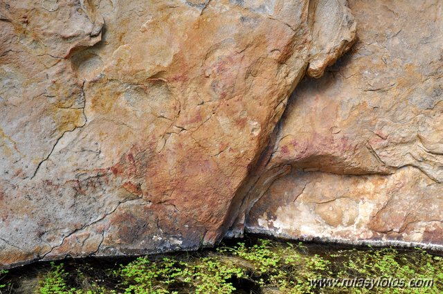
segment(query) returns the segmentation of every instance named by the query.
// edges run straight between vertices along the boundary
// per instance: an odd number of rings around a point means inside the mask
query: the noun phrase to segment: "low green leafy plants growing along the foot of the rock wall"
[[[69,262],[69,261],[66,261]],[[333,248],[256,239],[217,250],[138,257],[108,265],[51,263],[39,273],[40,294],[443,293],[443,257],[425,250]],[[99,275],[100,278],[95,275]],[[14,281],[0,271],[0,293]],[[433,279],[425,288],[343,287],[316,279]]]

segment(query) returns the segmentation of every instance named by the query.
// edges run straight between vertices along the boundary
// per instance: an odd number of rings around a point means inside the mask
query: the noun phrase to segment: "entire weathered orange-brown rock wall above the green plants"
[[[443,245],[442,7],[0,0],[0,266]]]

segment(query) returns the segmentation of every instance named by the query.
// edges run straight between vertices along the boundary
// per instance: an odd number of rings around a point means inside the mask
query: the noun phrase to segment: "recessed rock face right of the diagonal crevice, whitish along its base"
[[[233,233],[442,248],[443,2],[398,4],[350,1],[358,42],[296,89]]]

